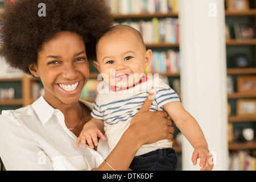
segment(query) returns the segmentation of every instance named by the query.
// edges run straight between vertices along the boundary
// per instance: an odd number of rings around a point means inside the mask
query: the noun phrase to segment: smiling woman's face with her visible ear
[[[44,85],[44,98],[54,106],[75,104],[89,78],[84,41],[74,32],[58,32],[44,43],[38,65],[30,65]]]

